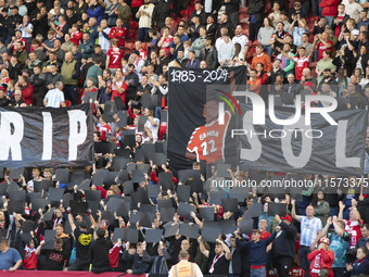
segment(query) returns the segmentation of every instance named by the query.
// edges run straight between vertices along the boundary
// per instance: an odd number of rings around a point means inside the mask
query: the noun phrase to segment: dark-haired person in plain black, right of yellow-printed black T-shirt
[[[111,270],[109,250],[113,247],[112,241],[105,239],[107,230],[99,228],[97,231],[98,239],[91,243],[89,257],[92,264],[92,273],[104,273]]]

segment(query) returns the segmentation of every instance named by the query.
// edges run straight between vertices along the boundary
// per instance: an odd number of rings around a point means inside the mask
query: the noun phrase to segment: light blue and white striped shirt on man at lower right
[[[318,231],[322,230],[322,224],[320,218],[306,216],[300,216],[301,218],[301,236],[300,245],[311,247],[313,242],[318,237]]]

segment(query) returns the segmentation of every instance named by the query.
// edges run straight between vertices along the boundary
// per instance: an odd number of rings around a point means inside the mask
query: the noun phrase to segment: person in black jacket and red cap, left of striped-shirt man
[[[290,268],[295,257],[297,229],[292,225],[290,215],[285,215],[284,217],[276,215],[276,219],[279,223],[279,227],[277,227],[279,231],[272,242],[275,265],[278,276],[288,277],[290,276]]]

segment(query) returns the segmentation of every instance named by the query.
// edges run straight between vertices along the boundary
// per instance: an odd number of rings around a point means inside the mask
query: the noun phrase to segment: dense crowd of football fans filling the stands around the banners
[[[175,177],[140,151],[154,142],[165,153],[171,66],[247,66],[247,89],[266,100],[318,93],[342,110],[367,109],[368,8],[367,0],[0,0],[0,106],[92,102],[99,144],[96,164],[69,168],[66,181],[54,168],[4,169],[0,269],[368,276],[369,198],[359,178],[349,180],[356,189],[325,191],[315,185],[334,176],[302,174],[308,186],[293,198],[232,191],[209,186],[199,162]],[[148,95],[156,96],[149,104]],[[105,113],[111,101],[127,111],[124,126]],[[122,141],[129,129],[133,143]],[[281,176],[291,177],[230,169],[227,178]],[[182,185],[190,192],[180,193]],[[51,198],[55,189],[61,200]],[[238,196],[237,209],[222,205],[226,194]],[[271,213],[273,203],[283,209]],[[164,234],[152,239],[152,229]]]

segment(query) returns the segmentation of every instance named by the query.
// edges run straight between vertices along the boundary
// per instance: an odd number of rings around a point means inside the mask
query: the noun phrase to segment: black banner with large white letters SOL
[[[310,125],[306,125],[303,113],[296,124],[283,126],[270,119],[268,109],[265,110],[265,124],[254,125],[255,106],[240,104],[240,108],[242,116],[228,126],[230,140],[226,142],[238,146],[240,166],[283,173],[362,174],[366,110],[330,112],[329,116],[338,125],[330,124],[320,113],[311,113]],[[295,109],[275,109],[273,114],[277,118],[288,119],[295,115]]]

